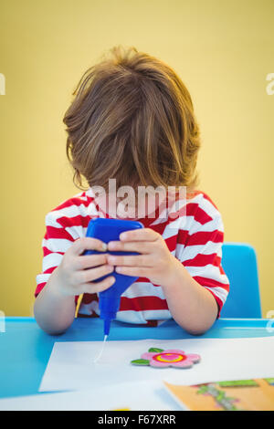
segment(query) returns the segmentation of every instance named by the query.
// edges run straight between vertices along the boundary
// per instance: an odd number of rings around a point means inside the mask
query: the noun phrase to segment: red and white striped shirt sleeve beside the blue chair
[[[222,216],[212,200],[204,196],[198,203],[187,204],[175,256],[195,281],[214,296],[218,306],[217,318],[229,291],[229,281],[222,267],[223,242]]]

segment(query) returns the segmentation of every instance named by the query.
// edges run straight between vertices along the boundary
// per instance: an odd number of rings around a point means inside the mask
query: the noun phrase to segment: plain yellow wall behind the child
[[[258,253],[263,316],[274,309],[273,0],[2,0],[1,290],[8,316],[32,314],[45,214],[79,189],[62,118],[82,73],[116,44],[163,59],[189,89],[203,148],[200,188],[225,240]]]

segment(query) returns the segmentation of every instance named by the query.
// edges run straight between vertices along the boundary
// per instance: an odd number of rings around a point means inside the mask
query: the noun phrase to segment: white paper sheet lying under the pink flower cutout
[[[100,347],[101,341],[56,342],[39,391],[100,388],[146,380],[197,384],[274,376],[274,337],[109,341],[100,361],[93,363]],[[130,363],[151,347],[198,353],[201,361],[190,369]]]

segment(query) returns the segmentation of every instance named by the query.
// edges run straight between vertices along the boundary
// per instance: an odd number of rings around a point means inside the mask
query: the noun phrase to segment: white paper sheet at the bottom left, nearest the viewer
[[[143,394],[145,392],[145,395]],[[1,411],[175,411],[180,406],[163,382],[119,383],[80,392],[43,393],[0,399]]]

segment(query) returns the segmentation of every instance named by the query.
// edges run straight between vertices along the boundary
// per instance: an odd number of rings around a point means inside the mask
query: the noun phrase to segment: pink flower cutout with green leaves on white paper
[[[131,361],[132,365],[152,366],[153,368],[191,368],[194,363],[201,360],[198,354],[186,354],[177,349],[149,349],[142,353],[141,359]]]

